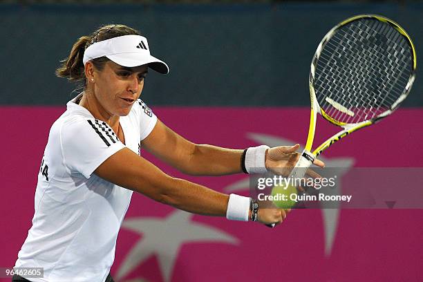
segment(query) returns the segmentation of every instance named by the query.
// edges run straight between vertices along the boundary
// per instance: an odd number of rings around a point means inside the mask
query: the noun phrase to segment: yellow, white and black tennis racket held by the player
[[[358,15],[332,28],[312,59],[310,128],[289,177],[303,178],[333,143],[391,115],[410,92],[415,69],[413,42],[391,19]],[[312,150],[317,113],[342,130]]]

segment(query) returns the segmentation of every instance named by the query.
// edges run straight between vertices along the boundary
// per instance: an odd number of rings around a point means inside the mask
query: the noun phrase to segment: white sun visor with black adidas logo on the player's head
[[[84,65],[91,59],[108,57],[120,66],[133,67],[148,64],[158,73],[169,73],[169,67],[160,59],[150,55],[147,38],[140,35],[124,35],[95,42],[84,52]]]

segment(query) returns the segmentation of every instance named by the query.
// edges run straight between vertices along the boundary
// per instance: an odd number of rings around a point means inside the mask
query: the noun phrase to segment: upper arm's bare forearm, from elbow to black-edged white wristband
[[[195,145],[180,170],[196,176],[222,176],[242,172],[243,150],[226,149],[208,144]]]

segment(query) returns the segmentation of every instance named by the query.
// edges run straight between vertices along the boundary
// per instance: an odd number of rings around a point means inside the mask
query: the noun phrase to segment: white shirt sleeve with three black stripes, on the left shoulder
[[[64,164],[86,178],[114,153],[124,148],[109,124],[82,119],[62,126],[61,146]]]

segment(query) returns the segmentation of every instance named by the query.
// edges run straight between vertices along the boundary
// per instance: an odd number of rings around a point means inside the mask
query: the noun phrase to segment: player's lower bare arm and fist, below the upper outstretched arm
[[[160,203],[194,214],[227,216],[229,196],[187,180],[173,178],[123,148],[100,164],[94,173],[115,185],[137,191]],[[245,212],[249,210],[247,203]],[[281,223],[283,209],[259,209],[261,223]]]

